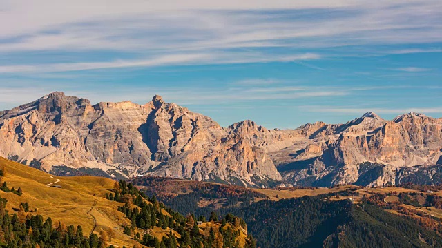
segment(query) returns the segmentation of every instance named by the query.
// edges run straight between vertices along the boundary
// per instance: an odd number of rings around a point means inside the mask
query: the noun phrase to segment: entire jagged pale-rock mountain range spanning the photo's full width
[[[436,165],[441,149],[442,119],[415,113],[385,121],[369,112],[345,124],[267,130],[253,121],[220,127],[161,96],[145,105],[91,105],[63,92],[0,112],[0,155],[62,174],[250,186],[329,186],[363,176],[365,185],[387,185],[403,177],[400,168]],[[367,163],[381,169],[366,174]]]

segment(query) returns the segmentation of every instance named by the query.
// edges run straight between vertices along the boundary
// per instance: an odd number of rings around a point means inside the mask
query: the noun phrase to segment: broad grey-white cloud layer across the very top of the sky
[[[67,8],[52,0],[7,1],[0,17],[0,51],[202,52],[442,41],[440,1],[226,2],[98,0],[91,6],[80,0]]]

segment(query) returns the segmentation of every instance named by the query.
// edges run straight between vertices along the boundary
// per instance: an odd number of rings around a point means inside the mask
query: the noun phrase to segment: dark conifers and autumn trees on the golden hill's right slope
[[[198,221],[204,217],[195,218],[193,214],[184,217],[176,211],[166,207],[157,201],[155,196],[149,198],[140,192],[131,183],[119,181],[114,186],[114,194],[106,195],[106,198],[125,203],[118,210],[131,220],[131,226],[124,227],[124,232],[133,236],[142,245],[148,247],[231,247],[239,246],[238,237],[240,227],[247,228],[244,220],[227,214],[222,223],[218,223],[218,216],[213,212],[211,223],[206,224],[205,231],[201,231]],[[135,205],[135,207],[131,207]],[[150,230],[161,228],[169,231],[169,234],[159,240],[151,234]],[[144,234],[140,235],[140,231]],[[177,238],[180,237],[180,238]],[[251,247],[247,245],[247,247]]]

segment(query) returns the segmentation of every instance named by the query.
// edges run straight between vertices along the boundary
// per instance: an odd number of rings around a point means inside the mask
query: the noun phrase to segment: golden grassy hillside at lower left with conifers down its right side
[[[190,245],[190,242],[201,245],[213,242],[212,228],[215,229],[213,235],[220,235],[219,223],[203,222],[197,226],[195,216],[186,218],[156,200],[151,202],[151,199],[124,181],[117,183],[109,178],[95,176],[51,176],[39,169],[1,157],[0,170],[3,175],[0,197],[7,200],[4,209],[9,214],[51,218],[57,230],[70,225],[73,228],[81,226],[86,237],[90,234],[99,234],[101,237],[102,232],[110,233],[109,236],[113,237],[106,241],[106,247],[156,247],[154,238],[158,240],[157,245],[160,245],[161,241],[186,247],[185,244]],[[23,206],[26,206],[26,210],[23,210]],[[133,220],[135,216],[136,223]],[[139,217],[148,218],[150,222],[140,225]],[[216,242],[221,245],[227,242],[233,242],[234,245],[238,242],[238,247],[249,247],[247,227],[233,226],[233,220],[235,223],[240,221],[235,216],[231,216],[230,219],[231,223],[228,222],[222,227],[222,238]],[[24,217],[21,221],[25,221]],[[195,231],[198,229],[200,231]],[[243,231],[238,231],[239,229]],[[16,237],[20,236],[20,233],[17,230]],[[64,235],[63,232],[61,234]],[[183,239],[183,234],[189,235],[189,240]],[[0,235],[0,243],[1,238],[3,236]]]

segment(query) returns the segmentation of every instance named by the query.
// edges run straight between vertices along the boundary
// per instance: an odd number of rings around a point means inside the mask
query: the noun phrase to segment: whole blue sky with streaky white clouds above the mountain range
[[[0,109],[58,90],[227,126],[442,116],[442,1],[0,0]]]

